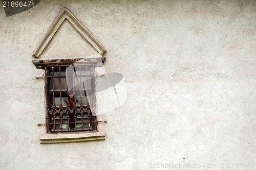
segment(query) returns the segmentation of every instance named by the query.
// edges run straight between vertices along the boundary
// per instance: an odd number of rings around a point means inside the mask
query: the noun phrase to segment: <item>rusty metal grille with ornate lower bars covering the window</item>
[[[45,67],[48,133],[96,131],[94,66]]]

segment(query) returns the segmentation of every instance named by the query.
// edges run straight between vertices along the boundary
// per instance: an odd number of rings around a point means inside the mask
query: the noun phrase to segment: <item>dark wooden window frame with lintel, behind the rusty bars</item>
[[[105,57],[96,57],[96,58],[76,58],[76,59],[55,59],[55,60],[33,60],[33,63],[34,65],[36,66],[37,69],[44,69],[44,72],[45,72],[45,95],[46,95],[46,111],[47,111],[47,116],[46,116],[46,125],[47,125],[47,133],[48,134],[51,134],[51,133],[61,133],[61,132],[97,132],[97,116],[96,116],[96,113],[95,113],[95,107],[96,107],[96,85],[95,85],[95,68],[96,67],[100,67],[102,66],[103,62],[105,60]],[[54,116],[49,116],[49,114],[53,114],[52,112],[55,111],[56,114],[60,114],[60,110],[64,113],[63,111],[63,104],[62,106],[59,105],[59,107],[57,107],[55,105],[52,105],[49,104],[50,102],[53,102],[53,100],[51,100],[51,94],[50,94],[50,72],[53,72],[53,79],[55,78],[54,76],[54,72],[57,72],[56,69],[59,69],[59,72],[63,71],[64,69],[63,68],[66,68],[69,67],[70,65],[73,65],[73,68],[74,68],[74,63],[75,63],[75,66],[79,66],[79,67],[87,67],[87,68],[92,68],[93,69],[93,73],[91,72],[91,74],[93,75],[93,78],[91,77],[91,93],[90,94],[94,94],[94,104],[90,105],[89,102],[84,104],[84,103],[80,103],[80,105],[76,105],[76,102],[77,102],[77,98],[78,97],[75,97],[73,99],[73,109],[70,109],[69,111],[73,111],[75,108],[77,109],[77,111],[79,111],[78,113],[80,113],[80,111],[82,110],[83,113],[84,112],[87,112],[87,117],[83,117],[81,116],[81,118],[79,117],[76,117],[77,116],[77,113],[76,113],[76,116],[73,116],[73,119],[75,119],[72,123],[74,123],[74,126],[73,128],[70,128],[69,126],[69,122],[68,122],[68,131],[65,129],[65,131],[63,131],[63,117],[60,119],[60,123],[61,123],[61,128],[60,130],[56,130],[56,117],[55,117],[55,120],[53,122],[51,122],[51,118],[54,118]],[[61,75],[61,73],[59,74]],[[60,78],[61,79],[61,78]],[[54,82],[54,81],[53,81]],[[88,89],[87,89],[88,90]],[[60,90],[61,91],[61,90]],[[55,91],[54,91],[54,94],[55,94]],[[88,94],[88,93],[87,93]],[[63,93],[63,97],[64,96],[70,96],[70,94],[68,93]],[[52,96],[53,97],[53,96]],[[60,96],[54,96],[54,97],[60,97]],[[62,95],[61,95],[62,97]],[[74,96],[73,96],[74,97]],[[72,99],[72,97],[69,97],[69,99]],[[69,103],[67,102],[67,107],[68,108],[68,104],[69,107],[72,105],[72,102],[69,100]],[[75,104],[75,105],[74,105]],[[57,109],[56,109],[57,108]],[[89,113],[88,113],[88,110],[90,109]],[[67,109],[66,109],[67,110]],[[67,113],[67,111],[66,111]],[[65,113],[65,114],[66,114]],[[73,112],[72,112],[73,113]],[[70,115],[69,115],[70,116]],[[68,116],[67,116],[68,118]],[[70,118],[70,117],[69,117]],[[84,118],[87,118],[88,120],[90,121],[83,121]],[[76,129],[76,120],[77,119],[80,119],[81,120],[81,129],[77,130]],[[66,120],[66,119],[65,119]],[[69,121],[69,120],[68,120]],[[88,123],[89,122],[89,123]],[[54,126],[53,126],[53,130],[51,129],[51,123],[55,123]],[[88,123],[88,127],[87,129],[84,129],[83,127],[83,123]],[[64,123],[65,124],[65,123]]]

